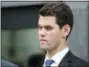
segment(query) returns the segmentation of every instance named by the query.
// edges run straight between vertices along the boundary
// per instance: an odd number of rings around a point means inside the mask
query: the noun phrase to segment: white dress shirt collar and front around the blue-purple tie
[[[64,56],[67,54],[67,52],[69,51],[68,47],[66,47],[65,49],[61,50],[60,52],[58,52],[57,54],[55,54],[53,57],[49,58],[47,55],[45,56],[45,60],[48,59],[52,59],[54,60],[54,63],[51,64],[51,66],[58,66],[61,62],[61,60],[64,58]],[[43,65],[45,67],[45,64]]]

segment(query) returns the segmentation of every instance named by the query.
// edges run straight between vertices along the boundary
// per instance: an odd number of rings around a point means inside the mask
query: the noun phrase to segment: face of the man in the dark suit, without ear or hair
[[[38,22],[40,47],[52,50],[59,47],[62,39],[62,30],[56,24],[54,16],[40,16]]]

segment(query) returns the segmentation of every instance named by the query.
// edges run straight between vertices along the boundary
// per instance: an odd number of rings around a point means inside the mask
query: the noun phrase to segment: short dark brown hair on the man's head
[[[72,30],[73,13],[71,8],[64,2],[46,4],[40,9],[39,14],[41,16],[55,16],[56,23],[60,28],[66,24],[69,24]]]

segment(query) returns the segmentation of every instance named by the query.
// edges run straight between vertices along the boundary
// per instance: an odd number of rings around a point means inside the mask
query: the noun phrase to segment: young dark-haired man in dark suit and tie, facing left
[[[29,66],[88,67],[87,62],[74,56],[67,44],[72,31],[73,13],[63,2],[50,3],[39,12],[38,32],[40,47],[45,56],[32,56]]]

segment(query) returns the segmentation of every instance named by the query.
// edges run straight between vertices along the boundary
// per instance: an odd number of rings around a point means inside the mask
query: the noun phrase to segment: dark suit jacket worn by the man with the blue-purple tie
[[[45,55],[32,55],[28,60],[29,67],[42,67]],[[89,67],[84,60],[74,56],[70,51],[62,59],[58,67]]]

